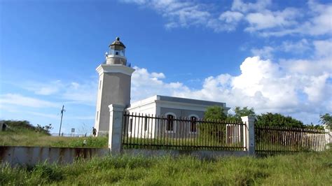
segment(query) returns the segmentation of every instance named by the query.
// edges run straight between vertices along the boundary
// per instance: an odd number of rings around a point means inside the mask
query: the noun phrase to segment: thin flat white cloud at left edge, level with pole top
[[[28,96],[22,96],[21,94],[2,94],[0,95],[1,105],[16,105],[16,106],[27,106],[32,108],[57,108],[60,106],[59,103],[53,103],[50,101],[44,101]]]

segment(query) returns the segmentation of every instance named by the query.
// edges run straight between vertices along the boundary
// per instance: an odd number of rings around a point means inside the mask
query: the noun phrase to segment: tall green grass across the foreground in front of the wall
[[[70,165],[3,164],[0,185],[331,185],[332,150],[266,158],[104,157]]]

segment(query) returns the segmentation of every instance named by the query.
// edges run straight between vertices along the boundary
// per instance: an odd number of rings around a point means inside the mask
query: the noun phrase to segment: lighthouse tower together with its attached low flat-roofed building
[[[109,45],[109,53],[105,55],[106,60],[97,67],[99,73],[99,86],[97,94],[97,109],[95,117],[95,128],[97,135],[109,132],[109,105],[119,104],[125,106],[130,113],[140,113],[141,115],[165,116],[167,118],[187,117],[192,120],[204,117],[208,106],[221,106],[225,113],[230,109],[226,103],[203,101],[197,99],[184,99],[172,96],[151,96],[147,99],[130,103],[130,83],[131,75],[134,72],[127,66],[125,57],[125,45],[116,38]],[[134,127],[135,128],[135,127]],[[146,122],[146,127],[141,131],[152,129],[155,131],[156,122]],[[188,127],[188,132],[195,133],[194,129]],[[130,126],[132,129],[132,126]],[[158,130],[165,130],[167,133],[181,131],[177,122],[172,122]],[[150,135],[154,135],[150,133]]]

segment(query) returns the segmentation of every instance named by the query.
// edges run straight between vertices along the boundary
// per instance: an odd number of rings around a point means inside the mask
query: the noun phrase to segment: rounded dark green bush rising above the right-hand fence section
[[[290,116],[284,116],[279,113],[265,113],[257,115],[257,126],[275,126],[275,127],[305,127],[303,122],[293,119]]]

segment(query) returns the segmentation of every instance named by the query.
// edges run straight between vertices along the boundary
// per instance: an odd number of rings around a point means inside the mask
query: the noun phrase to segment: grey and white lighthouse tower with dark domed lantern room
[[[109,105],[130,105],[130,83],[134,69],[127,66],[125,45],[116,38],[109,45],[106,61],[97,67],[99,86],[97,94],[97,109],[95,128],[97,136],[109,132]]]

